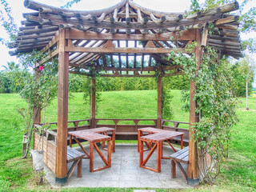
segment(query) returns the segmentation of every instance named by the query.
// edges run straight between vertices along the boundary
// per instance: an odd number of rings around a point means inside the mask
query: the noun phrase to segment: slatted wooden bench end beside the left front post
[[[70,178],[71,174],[73,174],[76,166],[78,166],[78,178],[82,178],[82,158],[84,156],[85,154],[82,154],[78,150],[74,150],[69,146],[67,147],[66,162],[73,162],[70,170],[67,172],[68,179]]]

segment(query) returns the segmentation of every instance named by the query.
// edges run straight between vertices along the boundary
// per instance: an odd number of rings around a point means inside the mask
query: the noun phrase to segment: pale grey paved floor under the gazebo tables
[[[87,147],[86,147],[87,148]],[[163,155],[173,153],[169,146],[163,147]],[[79,148],[76,148],[80,150]],[[89,151],[89,150],[88,150]],[[146,152],[145,152],[146,153]],[[147,152],[148,153],[148,152]],[[106,155],[106,151],[103,151]],[[145,158],[146,156],[144,156]],[[156,151],[147,166],[156,168]],[[71,166],[71,163],[68,165]],[[94,152],[94,168],[103,166],[102,159]],[[185,165],[184,165],[185,166]],[[139,167],[137,145],[117,145],[112,153],[112,166],[106,170],[90,173],[89,159],[83,159],[82,178],[76,177],[76,170],[65,185],[66,187],[151,187],[151,188],[187,188],[177,169],[177,178],[170,177],[170,159],[162,159],[161,173],[155,173]],[[54,186],[54,174],[46,169],[46,178]]]

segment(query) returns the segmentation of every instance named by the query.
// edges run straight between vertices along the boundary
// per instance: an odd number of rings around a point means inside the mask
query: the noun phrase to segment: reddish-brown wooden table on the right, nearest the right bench
[[[147,133],[147,135],[145,135]],[[170,144],[168,141],[171,138],[180,136],[181,137],[181,149],[183,148],[183,134],[182,132],[178,131],[171,131],[171,130],[160,130],[156,128],[151,128],[151,127],[146,127],[142,129],[138,129],[138,149],[139,149],[139,165],[142,168],[148,169],[148,170],[153,170],[155,172],[160,172],[161,171],[161,159],[170,159],[168,157],[163,157],[162,156],[162,142],[166,141],[176,152],[174,149],[174,146]],[[144,135],[144,136],[142,136]],[[143,159],[143,142],[145,142],[147,146],[147,150],[150,150],[150,153],[146,156],[145,159]],[[151,147],[151,143],[154,143],[154,146]],[[157,169],[154,169],[150,166],[146,166],[146,162],[150,159],[151,155],[154,153],[154,150],[158,149],[157,151]]]

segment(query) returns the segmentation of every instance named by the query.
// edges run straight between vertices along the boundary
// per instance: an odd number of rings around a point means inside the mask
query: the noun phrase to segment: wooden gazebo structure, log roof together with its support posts
[[[16,42],[10,43],[10,55],[29,53],[36,49],[46,53],[46,58],[35,67],[58,58],[58,129],[55,175],[57,182],[66,182],[66,139],[68,131],[68,79],[70,74],[87,74],[92,67],[100,70],[102,77],[158,78],[158,118],[154,126],[167,129],[162,120],[162,77],[183,74],[182,66],[167,60],[170,51],[186,53],[186,45],[197,42],[194,53],[198,69],[204,46],[213,46],[220,57],[242,57],[238,32],[238,2],[222,5],[196,14],[177,14],[149,10],[131,0],[122,0],[103,10],[66,10],[26,0],[24,5],[33,13],[23,14],[25,21]],[[213,24],[209,35],[208,25]],[[90,128],[98,127],[95,118],[95,78],[92,77],[90,103]],[[198,122],[196,86],[190,82],[190,137],[192,125]],[[118,121],[118,120],[114,120]],[[134,120],[134,130],[138,129]],[[36,122],[40,123],[40,113]],[[74,121],[75,125],[76,121]],[[179,122],[174,122],[178,125]],[[77,125],[78,126],[78,125]],[[117,127],[115,122],[114,127]],[[87,127],[88,128],[88,127]],[[129,133],[127,134],[129,135]],[[189,138],[190,138],[189,137]],[[188,182],[198,182],[197,143],[189,139]]]

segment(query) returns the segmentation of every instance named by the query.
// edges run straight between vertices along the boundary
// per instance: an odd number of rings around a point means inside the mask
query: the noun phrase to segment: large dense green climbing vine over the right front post
[[[194,140],[198,142],[198,166],[202,179],[212,183],[227,157],[231,128],[238,122],[234,79],[230,73],[232,65],[227,58],[219,58],[216,50],[210,47],[206,47],[202,54],[199,70],[196,70],[194,54],[187,57],[171,52],[170,57],[196,84],[194,100],[200,121],[193,127]],[[188,101],[189,94],[183,95],[183,99]],[[187,106],[185,108],[188,109]]]

